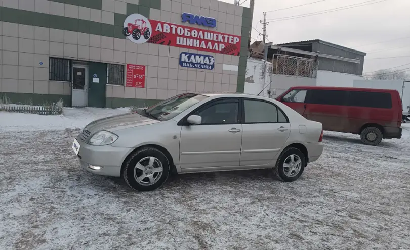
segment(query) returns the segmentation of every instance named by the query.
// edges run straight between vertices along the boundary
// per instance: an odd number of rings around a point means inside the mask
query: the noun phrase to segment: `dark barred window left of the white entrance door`
[[[49,80],[50,81],[71,81],[71,60],[63,58],[49,59]]]

